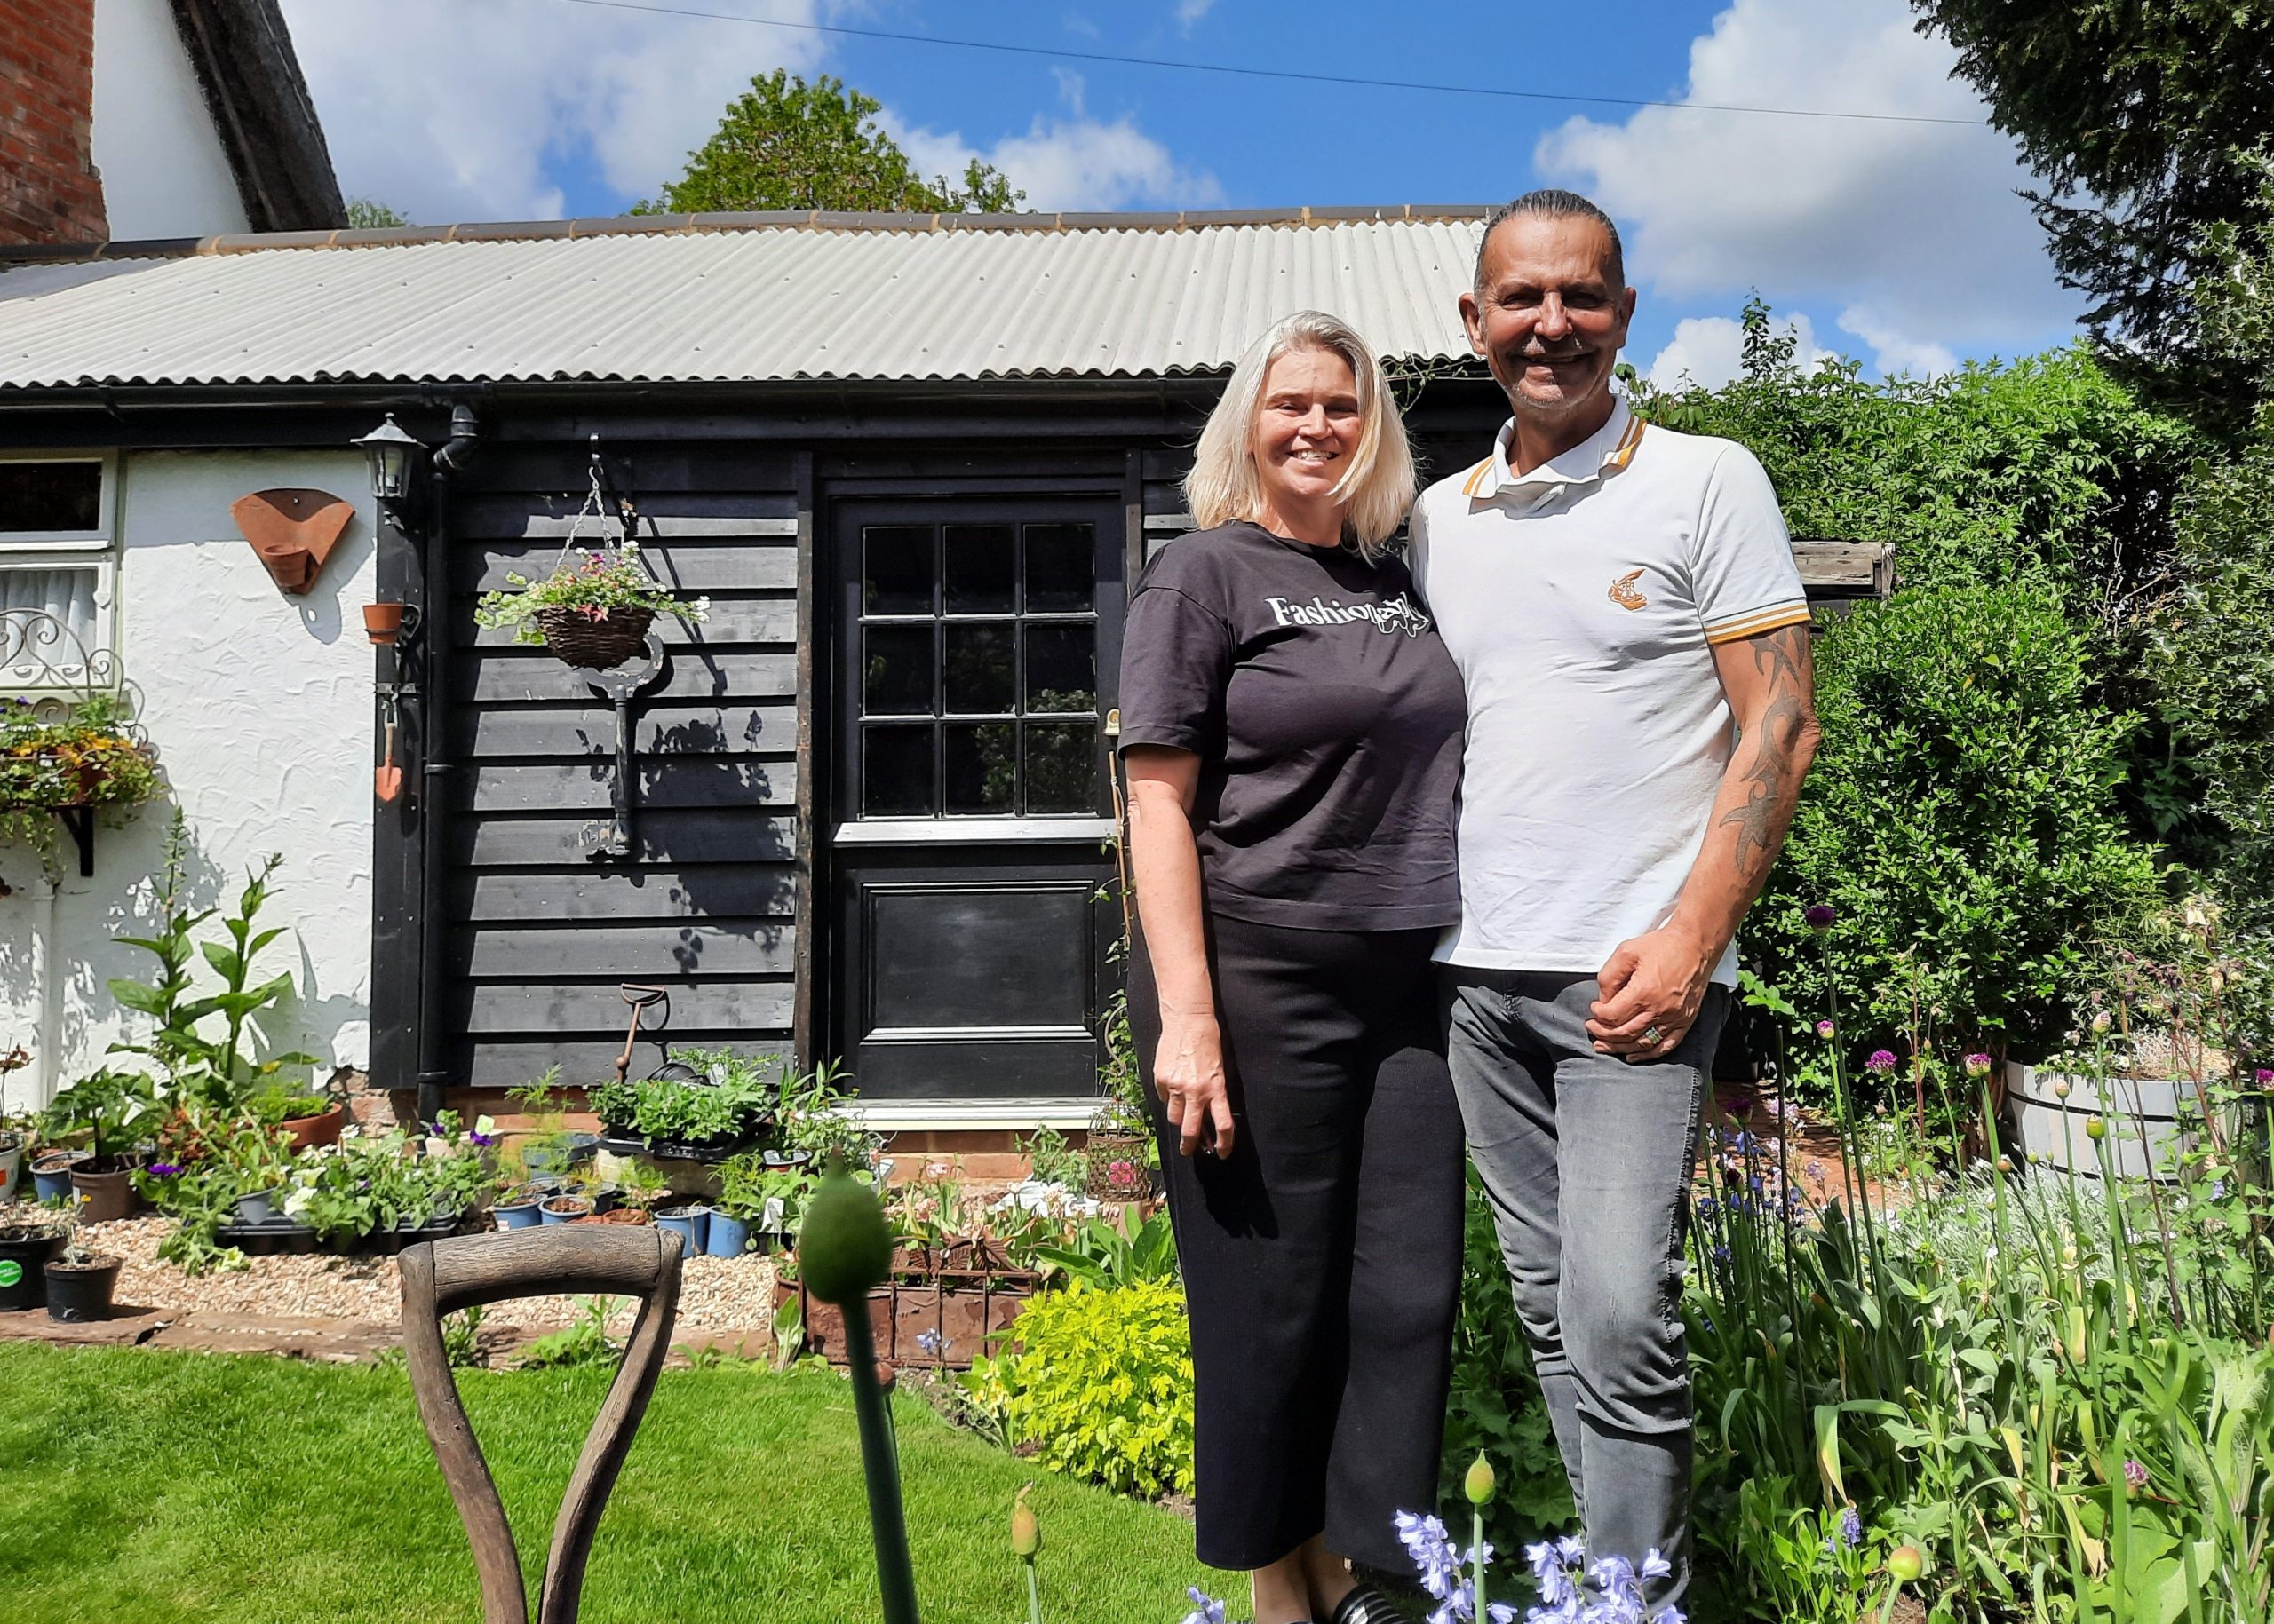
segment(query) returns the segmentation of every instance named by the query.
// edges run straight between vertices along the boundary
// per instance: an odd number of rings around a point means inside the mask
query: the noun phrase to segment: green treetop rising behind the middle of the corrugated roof
[[[782,68],[750,80],[719,132],[687,155],[687,173],[634,214],[735,209],[882,209],[910,214],[1005,214],[1026,202],[1003,171],[971,159],[962,187],[923,180],[875,123],[880,102],[821,75],[812,84]]]

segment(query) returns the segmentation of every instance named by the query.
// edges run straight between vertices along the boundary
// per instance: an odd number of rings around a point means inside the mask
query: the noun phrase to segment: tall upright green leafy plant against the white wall
[[[271,876],[284,862],[268,857],[257,871],[246,876],[246,889],[236,898],[236,912],[225,914],[221,926],[227,942],[200,942],[198,926],[214,917],[211,908],[191,910],[184,896],[182,855],[189,835],[180,807],[166,830],[166,857],[159,876],[159,930],[150,937],[118,937],[125,946],[141,948],[159,962],[155,980],[111,980],[111,996],[130,1010],[148,1014],[155,1030],[139,1044],[111,1044],[111,1053],[146,1055],[168,1076],[173,1092],[207,1105],[239,1105],[255,1094],[282,1087],[287,1067],[314,1067],[314,1055],[277,1053],[257,1058],[248,1049],[255,1021],[291,996],[291,973],[257,980],[252,960],[259,958],[284,928],[257,930],[255,919],[268,903]],[[205,964],[221,978],[221,989],[193,996],[193,962]],[[221,1030],[207,1030],[218,1019]]]

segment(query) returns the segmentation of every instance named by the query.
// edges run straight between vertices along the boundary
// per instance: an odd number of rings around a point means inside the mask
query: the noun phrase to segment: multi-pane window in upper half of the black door
[[[866,525],[862,817],[1098,807],[1094,523]]]

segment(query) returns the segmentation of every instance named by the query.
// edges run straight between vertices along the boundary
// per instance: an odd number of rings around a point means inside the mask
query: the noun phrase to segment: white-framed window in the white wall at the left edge
[[[0,453],[0,694],[109,685],[116,514],[109,453]]]

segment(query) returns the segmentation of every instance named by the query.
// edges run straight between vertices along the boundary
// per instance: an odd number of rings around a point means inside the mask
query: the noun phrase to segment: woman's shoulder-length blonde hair
[[[1185,475],[1185,503],[1201,530],[1253,521],[1264,507],[1255,475],[1255,412],[1264,398],[1271,364],[1289,350],[1328,350],[1351,364],[1358,380],[1358,450],[1351,455],[1335,496],[1342,498],[1342,539],[1364,557],[1376,557],[1396,535],[1414,503],[1414,457],[1405,444],[1405,421],[1389,398],[1389,378],[1358,332],[1335,316],[1298,309],[1271,323],[1233,368],[1223,398],[1207,414],[1201,444]]]

